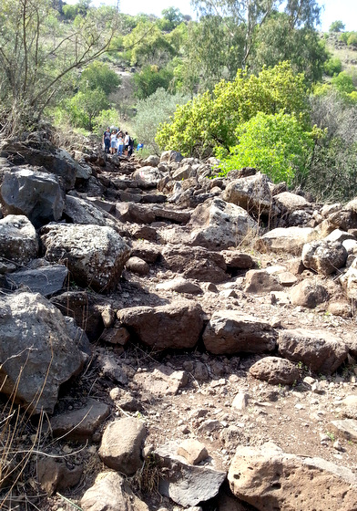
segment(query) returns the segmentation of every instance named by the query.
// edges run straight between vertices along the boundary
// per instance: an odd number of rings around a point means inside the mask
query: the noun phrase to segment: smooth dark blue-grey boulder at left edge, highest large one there
[[[60,220],[64,196],[54,174],[17,167],[5,172],[0,192],[5,214],[24,214],[35,227]]]

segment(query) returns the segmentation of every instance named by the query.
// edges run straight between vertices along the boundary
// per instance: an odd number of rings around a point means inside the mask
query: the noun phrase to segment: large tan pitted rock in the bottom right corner
[[[321,458],[285,454],[273,444],[239,447],[228,474],[230,489],[260,511],[348,511],[357,507],[357,477]]]

